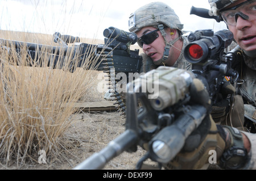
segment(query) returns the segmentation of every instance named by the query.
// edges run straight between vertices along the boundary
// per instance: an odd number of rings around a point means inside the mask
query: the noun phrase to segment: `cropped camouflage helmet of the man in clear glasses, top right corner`
[[[220,15],[219,12],[237,0],[208,0],[213,15]]]

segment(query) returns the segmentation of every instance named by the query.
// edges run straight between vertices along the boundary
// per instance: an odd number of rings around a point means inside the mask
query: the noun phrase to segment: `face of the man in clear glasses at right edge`
[[[234,7],[245,0],[238,0],[227,8]],[[250,6],[256,12],[256,3],[251,3]],[[244,50],[251,51],[256,50],[256,14],[249,14],[248,11],[239,9],[240,12],[249,16],[249,19],[244,19],[241,16],[237,16],[236,25],[229,25],[229,30],[233,32],[234,39],[238,45]]]

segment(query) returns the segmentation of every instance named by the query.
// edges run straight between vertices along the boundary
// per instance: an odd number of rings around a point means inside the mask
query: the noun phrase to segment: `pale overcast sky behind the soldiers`
[[[129,15],[150,0],[0,0],[1,30],[69,34],[104,39],[103,31],[128,31]],[[209,9],[208,0],[163,0],[179,16],[185,31],[224,30],[224,23],[190,15],[192,6]]]

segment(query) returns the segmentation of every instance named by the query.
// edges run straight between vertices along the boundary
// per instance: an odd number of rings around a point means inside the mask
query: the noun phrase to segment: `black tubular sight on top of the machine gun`
[[[103,35],[104,37],[112,38],[122,43],[131,42],[132,45],[137,43],[137,39],[138,39],[135,33],[121,31],[118,28],[114,28],[114,27],[106,28],[103,32]]]

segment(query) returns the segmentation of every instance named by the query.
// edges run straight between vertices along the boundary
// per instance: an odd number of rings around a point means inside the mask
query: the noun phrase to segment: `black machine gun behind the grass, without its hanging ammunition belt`
[[[141,70],[142,57],[139,56],[139,50],[129,49],[130,42],[131,44],[137,42],[135,33],[129,33],[119,30],[118,28],[109,27],[104,31],[104,36],[106,37],[105,44],[98,45],[79,43],[79,37],[61,35],[59,32],[53,34],[53,41],[59,43],[60,46],[5,39],[0,39],[0,45],[2,47],[15,49],[18,54],[21,50],[27,50],[27,56],[30,57],[31,60],[36,61],[36,64],[39,66],[42,65],[41,62],[43,61],[40,60],[40,58],[42,58],[40,54],[44,53],[47,54],[49,60],[53,62],[53,64],[51,63],[48,66],[53,65],[56,69],[57,66],[55,64],[57,64],[58,61],[61,61],[61,65],[64,65],[64,60],[68,58],[71,58],[72,64],[76,64],[77,67],[82,67],[84,64],[87,64],[86,61],[91,61],[95,58],[97,62],[93,65],[96,65],[98,71],[104,71],[106,63],[113,64],[115,71],[127,74],[136,73]],[[68,43],[72,45],[68,46]],[[86,69],[89,68],[90,64],[86,65]],[[75,71],[75,68],[72,68],[70,71]]]

